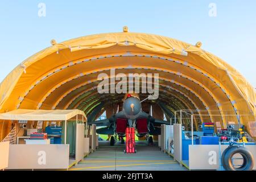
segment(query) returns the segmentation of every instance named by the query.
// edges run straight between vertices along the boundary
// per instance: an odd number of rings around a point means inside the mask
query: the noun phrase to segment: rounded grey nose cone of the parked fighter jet
[[[134,118],[141,112],[141,102],[135,97],[127,98],[123,102],[123,111],[127,117]]]

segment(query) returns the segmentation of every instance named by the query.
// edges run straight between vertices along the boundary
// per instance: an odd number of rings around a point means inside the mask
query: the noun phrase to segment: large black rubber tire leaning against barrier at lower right
[[[228,147],[226,148],[226,151],[223,152],[223,154],[221,156],[221,162],[226,171],[251,171],[253,169],[253,155],[249,150],[247,150],[247,148],[241,146]],[[240,154],[243,157],[243,164],[239,168],[235,168],[232,164],[232,157],[235,154]]]

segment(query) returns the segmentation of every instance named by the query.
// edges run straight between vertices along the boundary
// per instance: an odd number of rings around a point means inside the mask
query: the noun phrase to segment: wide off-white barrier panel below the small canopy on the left
[[[69,144],[12,144],[7,169],[67,169]]]

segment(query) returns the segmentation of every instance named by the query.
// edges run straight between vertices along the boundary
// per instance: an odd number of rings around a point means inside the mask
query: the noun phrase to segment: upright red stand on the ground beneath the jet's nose
[[[135,153],[135,129],[134,127],[126,128],[126,153]]]

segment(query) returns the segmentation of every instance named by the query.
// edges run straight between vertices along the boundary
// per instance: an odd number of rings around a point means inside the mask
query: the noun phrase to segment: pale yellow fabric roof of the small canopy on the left
[[[31,110],[31,109],[17,109],[7,113],[1,113],[0,119],[3,120],[23,120],[23,121],[65,121],[75,117],[76,115],[83,115],[84,121],[86,116],[83,111],[74,110]]]

